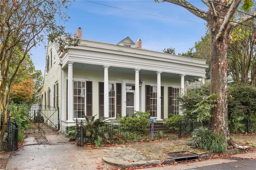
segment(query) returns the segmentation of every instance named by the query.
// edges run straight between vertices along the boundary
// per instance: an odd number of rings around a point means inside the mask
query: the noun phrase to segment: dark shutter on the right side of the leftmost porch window
[[[92,117],[92,81],[86,81],[86,117]]]

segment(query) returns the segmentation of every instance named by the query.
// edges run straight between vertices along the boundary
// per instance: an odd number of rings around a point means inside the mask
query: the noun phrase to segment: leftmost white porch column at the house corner
[[[68,121],[74,122],[73,120],[73,63],[68,63]]]

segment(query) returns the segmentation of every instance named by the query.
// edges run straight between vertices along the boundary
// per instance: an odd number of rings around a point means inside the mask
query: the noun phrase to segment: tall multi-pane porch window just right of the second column
[[[116,110],[116,84],[109,83],[108,84],[108,113],[109,117],[115,117]]]

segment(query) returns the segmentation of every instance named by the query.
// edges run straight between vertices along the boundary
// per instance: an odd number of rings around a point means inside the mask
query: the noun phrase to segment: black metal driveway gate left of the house
[[[58,131],[60,130],[59,108],[32,105],[27,112],[28,131]]]

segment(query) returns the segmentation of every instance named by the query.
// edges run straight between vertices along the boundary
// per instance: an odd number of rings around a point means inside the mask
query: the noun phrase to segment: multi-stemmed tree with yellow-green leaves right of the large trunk
[[[250,11],[255,11],[256,5]],[[240,13],[237,14],[241,16]],[[256,86],[256,44],[254,34],[256,23],[254,20],[245,22],[234,28],[231,32],[232,39],[228,45],[228,73],[234,83],[248,84],[248,73],[251,73],[251,85]]]

